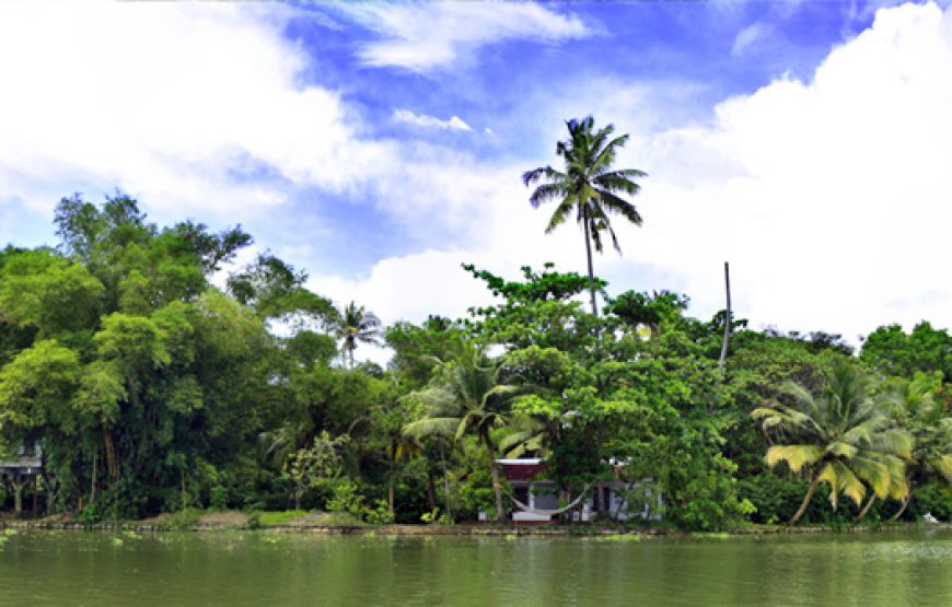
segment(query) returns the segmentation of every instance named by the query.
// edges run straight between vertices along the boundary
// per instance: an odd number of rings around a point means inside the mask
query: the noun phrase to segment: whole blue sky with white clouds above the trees
[[[120,190],[384,323],[460,317],[463,262],[584,272],[520,177],[589,115],[648,173],[611,293],[709,318],[730,261],[753,328],[952,326],[948,0],[0,3],[0,244]]]

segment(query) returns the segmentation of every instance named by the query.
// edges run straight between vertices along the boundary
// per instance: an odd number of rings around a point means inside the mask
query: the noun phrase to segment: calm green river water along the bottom
[[[4,537],[2,606],[952,606],[949,532],[642,541]]]

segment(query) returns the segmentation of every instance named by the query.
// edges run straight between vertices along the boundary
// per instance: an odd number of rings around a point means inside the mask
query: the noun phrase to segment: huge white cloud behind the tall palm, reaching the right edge
[[[627,109],[614,97],[594,100],[595,116],[632,133],[618,165],[651,175],[636,199],[645,227],[619,221],[625,256],[606,253],[596,271],[616,291],[685,291],[693,313],[708,316],[723,307],[730,260],[735,311],[754,326],[851,340],[891,322],[952,326],[949,66],[952,10],[904,5],[878,13],[811,81],[781,79],[728,100],[709,125],[659,131],[643,97]],[[547,114],[572,115],[554,105],[537,116]],[[583,271],[574,225],[543,234],[550,210],[529,208],[518,180],[525,168],[418,167],[408,187],[429,184],[434,201],[406,202],[398,214],[444,213],[444,225],[455,218],[453,234],[468,234],[466,245],[385,259],[365,279],[339,284],[339,296],[365,297],[386,319],[420,320],[428,312],[463,314],[478,297],[465,290],[481,288],[458,261],[507,276],[546,259]],[[448,240],[460,242],[442,234],[432,242]]]

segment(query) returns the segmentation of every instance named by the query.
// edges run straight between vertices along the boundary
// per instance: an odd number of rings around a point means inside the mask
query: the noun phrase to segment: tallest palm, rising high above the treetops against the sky
[[[565,162],[564,171],[557,171],[552,166],[533,168],[523,173],[522,180],[526,186],[542,182],[529,199],[534,208],[553,200],[557,203],[546,233],[565,223],[571,213],[576,214],[585,234],[592,314],[597,315],[592,245],[594,244],[595,250],[602,253],[602,234],[607,232],[615,250],[622,252],[608,214],[617,213],[635,225],[641,225],[638,210],[618,194],[629,196],[638,194],[641,186],[632,179],[646,177],[647,174],[637,168],[613,170],[615,155],[628,141],[628,136],[613,138],[615,132],[613,125],[595,130],[594,124],[591,116],[567,121],[569,138],[556,144],[556,154]]]

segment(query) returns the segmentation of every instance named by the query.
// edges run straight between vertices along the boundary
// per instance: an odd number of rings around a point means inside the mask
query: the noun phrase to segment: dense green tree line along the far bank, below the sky
[[[65,199],[56,225],[56,248],[0,254],[0,435],[42,447],[27,491],[47,512],[504,515],[490,463],[508,454],[545,457],[567,497],[651,478],[684,528],[952,514],[952,337],[925,323],[855,357],[733,320],[721,376],[725,315],[692,318],[675,293],[605,296],[595,316],[587,276],[467,266],[495,305],[382,330],[271,255],[216,287],[251,242],[237,227],[160,229],[125,196]],[[387,369],[356,363],[378,338]]]

